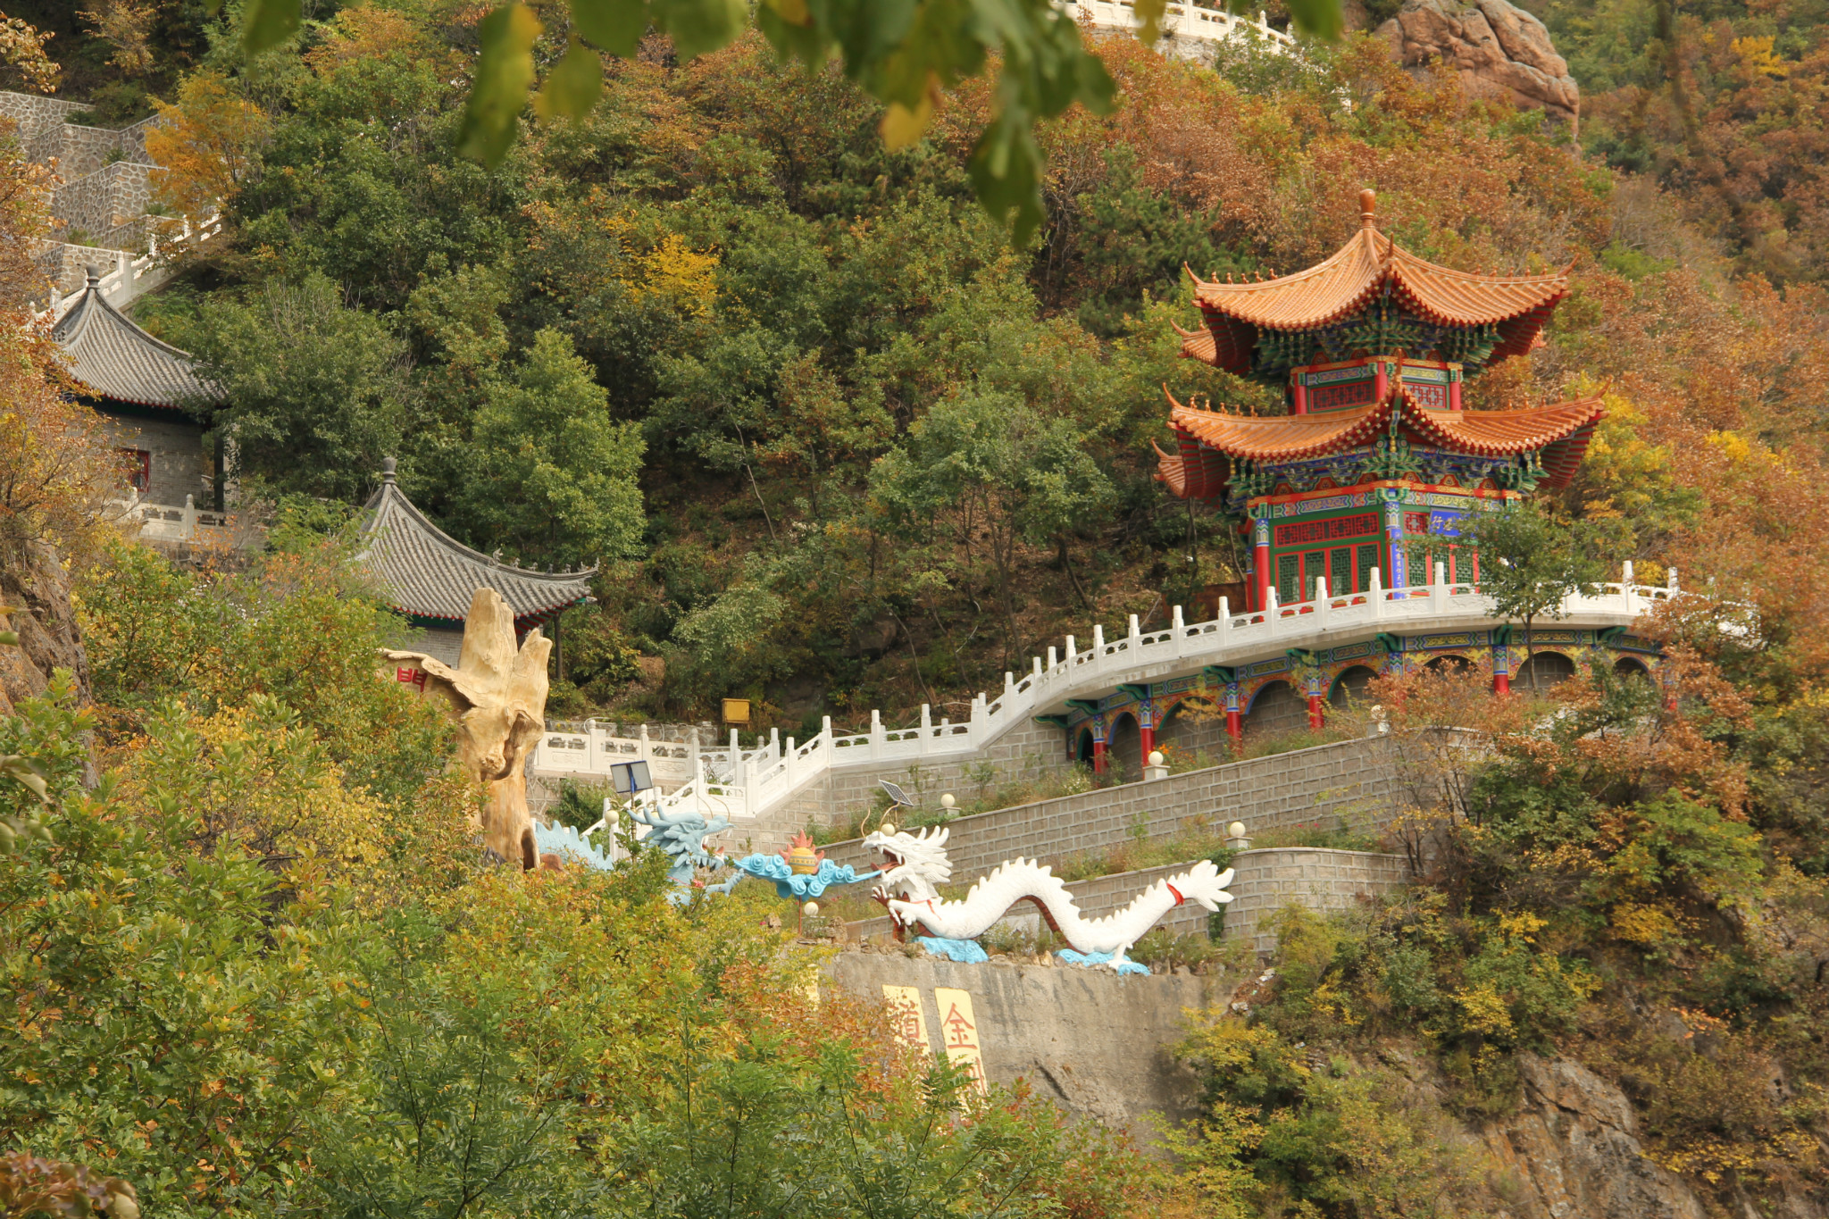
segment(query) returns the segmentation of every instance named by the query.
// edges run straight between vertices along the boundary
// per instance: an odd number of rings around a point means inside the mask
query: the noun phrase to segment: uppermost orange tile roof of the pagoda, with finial
[[[1567,270],[1483,276],[1417,258],[1377,230],[1372,192],[1361,192],[1359,199],[1359,232],[1308,270],[1251,283],[1207,283],[1194,276],[1194,302],[1209,329],[1218,331],[1216,323],[1231,318],[1271,331],[1311,331],[1352,316],[1386,285],[1405,309],[1421,318],[1445,325],[1485,325],[1547,311],[1569,291]],[[1536,327],[1531,336],[1535,333]]]

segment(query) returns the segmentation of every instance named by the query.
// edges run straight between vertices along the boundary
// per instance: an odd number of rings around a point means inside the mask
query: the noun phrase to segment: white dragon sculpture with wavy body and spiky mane
[[[1032,901],[1061,939],[1085,954],[1108,954],[1107,963],[1116,969],[1128,965],[1125,952],[1169,910],[1185,901],[1218,910],[1233,899],[1225,892],[1233,870],[1220,872],[1211,859],[1202,859],[1180,875],[1156,881],[1123,910],[1088,919],[1050,868],[1033,859],[1010,859],[973,885],[964,901],[942,901],[938,886],[953,879],[953,861],[946,853],[949,833],[946,826],[920,833],[889,828],[863,839],[865,848],[883,855],[883,877],[872,896],[889,908],[898,936],[925,928],[942,939],[975,939],[1010,906]]]

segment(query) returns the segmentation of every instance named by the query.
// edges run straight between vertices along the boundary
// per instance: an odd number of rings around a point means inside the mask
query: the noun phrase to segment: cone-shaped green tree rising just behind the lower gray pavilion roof
[[[560,331],[540,331],[490,389],[470,433],[454,517],[519,561],[576,567],[631,554],[642,537],[635,475],[646,448],[609,419],[609,395]]]

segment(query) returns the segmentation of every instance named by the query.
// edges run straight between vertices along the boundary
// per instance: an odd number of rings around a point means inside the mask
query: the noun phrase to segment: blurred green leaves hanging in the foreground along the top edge
[[[221,0],[205,5],[216,13]],[[1145,44],[1160,37],[1167,7],[1167,0],[1138,0]],[[649,26],[693,58],[730,46],[750,24],[746,0],[567,0],[567,11],[565,53],[538,95],[534,40],[545,27],[534,9],[512,0],[477,24],[481,55],[459,133],[465,155],[501,164],[530,95],[540,119],[587,113],[604,88],[598,51],[627,58]],[[1289,15],[1317,38],[1341,35],[1341,0],[1291,0]],[[241,48],[249,55],[274,48],[298,31],[298,20],[300,0],[249,0]],[[1107,113],[1118,91],[1081,42],[1079,26],[1050,0],[761,0],[754,20],[777,51],[808,68],[836,57],[849,79],[889,108],[882,121],[889,148],[920,139],[946,90],[1000,57],[995,110],[971,152],[971,186],[999,223],[1011,225],[1017,247],[1043,219],[1046,164],[1035,124],[1074,102]]]

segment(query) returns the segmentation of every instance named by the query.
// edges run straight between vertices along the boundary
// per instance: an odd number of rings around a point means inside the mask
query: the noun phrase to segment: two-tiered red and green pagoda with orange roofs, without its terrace
[[[1471,512],[1575,473],[1599,398],[1513,411],[1461,409],[1465,376],[1529,355],[1567,272],[1483,276],[1410,254],[1361,228],[1333,258],[1247,283],[1196,280],[1205,329],[1182,355],[1282,386],[1288,415],[1200,409],[1171,398],[1174,451],[1156,477],[1249,530],[1249,605],[1428,583],[1416,557],[1478,579],[1456,537]]]

